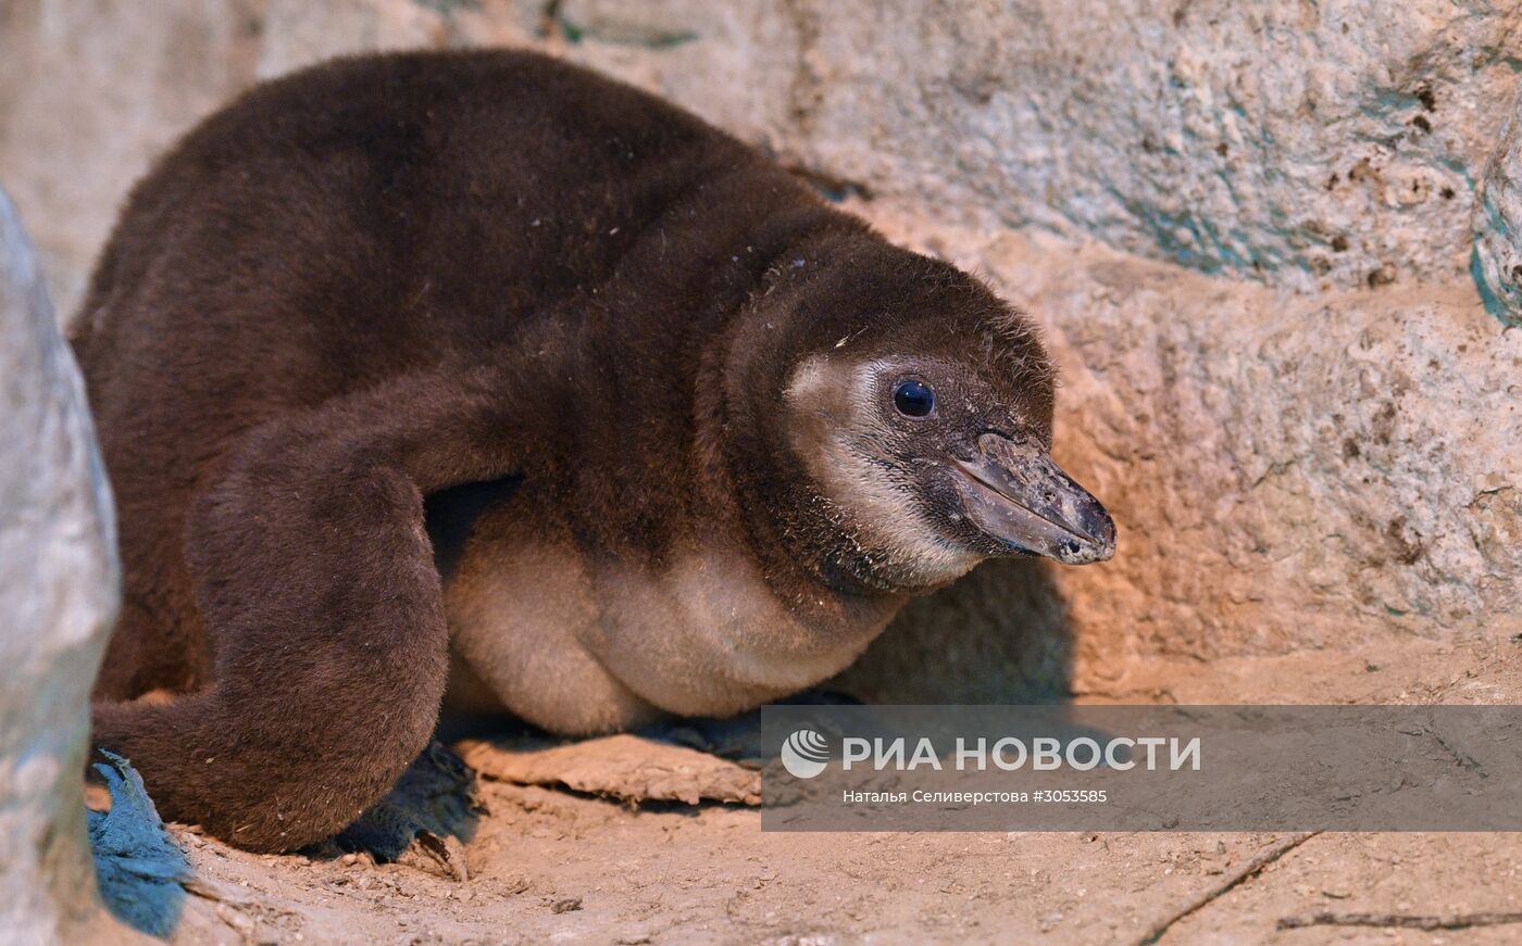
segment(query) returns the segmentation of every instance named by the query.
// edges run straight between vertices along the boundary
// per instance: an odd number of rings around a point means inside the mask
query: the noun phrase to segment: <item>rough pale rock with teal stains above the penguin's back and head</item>
[[[557,32],[947,222],[1307,289],[1463,271],[1519,26],[1516,0],[566,0]]]

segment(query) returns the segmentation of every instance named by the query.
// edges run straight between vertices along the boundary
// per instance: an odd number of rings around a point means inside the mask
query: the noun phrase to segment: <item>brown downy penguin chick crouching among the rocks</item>
[[[384,795],[446,683],[572,735],[734,713],[985,558],[1114,548],[1020,313],[536,55],[254,88],[76,324],[125,563],[96,744],[253,850]]]

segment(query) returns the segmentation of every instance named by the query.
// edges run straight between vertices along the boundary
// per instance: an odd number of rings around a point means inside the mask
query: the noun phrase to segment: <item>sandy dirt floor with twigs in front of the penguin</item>
[[[1145,694],[1081,700],[1513,703],[1513,651],[1411,642],[1160,666]],[[464,879],[416,859],[254,856],[175,826],[199,875],[177,940],[1522,941],[1522,835],[779,833],[744,805],[492,779],[479,802]]]

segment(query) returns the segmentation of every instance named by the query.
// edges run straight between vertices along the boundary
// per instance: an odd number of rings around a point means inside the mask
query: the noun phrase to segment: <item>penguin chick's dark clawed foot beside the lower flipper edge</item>
[[[464,843],[482,814],[475,773],[460,756],[431,742],[385,798],[309,853],[368,853],[380,864],[400,862],[464,881]]]

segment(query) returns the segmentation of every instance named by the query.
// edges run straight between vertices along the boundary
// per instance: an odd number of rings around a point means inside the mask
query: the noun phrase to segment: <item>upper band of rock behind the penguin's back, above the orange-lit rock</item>
[[[1447,278],[1519,26],[1522,0],[1122,0],[1103,17],[1062,0],[18,0],[0,8],[0,167],[23,205],[64,211],[41,242],[73,300],[126,183],[254,76],[548,41],[954,222],[1297,287]]]

